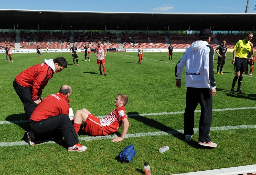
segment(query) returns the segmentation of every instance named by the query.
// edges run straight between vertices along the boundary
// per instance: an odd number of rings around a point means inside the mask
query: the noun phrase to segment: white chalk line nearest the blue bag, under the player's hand
[[[222,130],[231,130],[231,129],[249,129],[249,128],[256,128],[256,125],[238,125],[238,126],[222,126],[222,127],[211,127],[211,131],[222,131]],[[194,129],[194,133],[198,133],[198,128]],[[137,138],[137,137],[147,137],[147,136],[159,136],[159,135],[175,135],[178,133],[184,133],[184,130],[172,130],[172,131],[159,131],[159,132],[148,132],[148,133],[135,133],[135,134],[126,134],[125,138]],[[106,140],[106,139],[114,139],[118,135],[106,135],[106,136],[88,136],[88,137],[78,137],[81,141],[92,141],[92,140]],[[45,143],[56,143],[54,141],[48,141]],[[43,144],[45,144],[43,143]],[[16,141],[16,142],[0,142],[0,147],[7,147],[7,146],[21,146],[21,145],[29,145],[25,141]],[[40,145],[40,144],[38,144]]]

